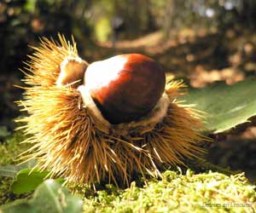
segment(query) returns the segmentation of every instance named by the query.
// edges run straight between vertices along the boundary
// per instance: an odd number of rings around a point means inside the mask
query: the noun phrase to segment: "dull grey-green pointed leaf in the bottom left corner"
[[[83,201],[68,193],[65,187],[54,180],[44,181],[30,200],[16,200],[0,209],[1,213],[80,213]]]

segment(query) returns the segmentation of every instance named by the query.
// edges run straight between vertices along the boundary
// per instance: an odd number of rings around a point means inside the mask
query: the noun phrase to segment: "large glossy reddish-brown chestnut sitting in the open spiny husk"
[[[85,87],[110,124],[136,121],[150,112],[165,90],[166,75],[153,59],[116,55],[90,64]]]

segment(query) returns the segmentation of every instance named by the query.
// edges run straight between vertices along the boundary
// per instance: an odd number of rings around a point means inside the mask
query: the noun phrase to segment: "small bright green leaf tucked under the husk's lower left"
[[[17,180],[11,186],[13,193],[28,193],[37,188],[49,175],[49,171],[38,171],[25,169],[20,170],[17,175]]]

